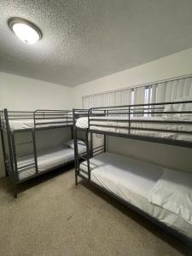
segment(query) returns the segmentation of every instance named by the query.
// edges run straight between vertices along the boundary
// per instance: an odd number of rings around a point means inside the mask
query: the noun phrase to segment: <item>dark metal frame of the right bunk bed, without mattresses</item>
[[[117,107],[104,107],[104,108],[90,108],[89,110],[85,109],[73,109],[73,131],[74,131],[74,144],[75,144],[75,183],[78,185],[78,177],[82,178],[85,182],[91,183],[98,189],[102,189],[105,193],[108,195],[111,195],[114,199],[120,201],[125,206],[130,207],[132,210],[135,210],[139,214],[141,214],[143,217],[148,218],[150,221],[152,221],[154,224],[158,224],[160,227],[162,227],[164,230],[168,231],[174,236],[177,236],[178,238],[182,239],[184,242],[188,243],[190,246],[192,246],[192,239],[188,236],[184,236],[182,233],[178,232],[177,230],[173,229],[172,227],[169,227],[168,225],[160,222],[157,218],[152,217],[147,212],[144,212],[140,208],[134,206],[128,201],[123,200],[118,195],[114,195],[113,192],[108,191],[108,189],[104,189],[98,184],[94,183],[90,179],[90,158],[96,156],[96,154],[102,154],[106,152],[106,139],[107,136],[114,136],[114,137],[125,137],[130,139],[136,139],[136,140],[143,140],[151,143],[164,143],[169,145],[174,145],[178,147],[185,147],[185,148],[192,148],[192,131],[177,131],[177,130],[166,130],[166,129],[154,129],[153,126],[151,128],[143,128],[143,127],[132,127],[131,126],[131,117],[137,117],[137,116],[160,116],[162,113],[188,113],[192,117],[192,111],[170,111],[165,112],[164,108],[167,104],[192,104],[192,101],[186,101],[186,102],[160,102],[160,103],[151,103],[151,104],[137,104],[137,105],[126,105],[126,106],[117,106]],[[116,125],[96,125],[96,121],[102,121],[105,122],[105,119],[103,119],[104,116],[108,117],[106,121],[110,119],[110,116],[127,116],[127,119],[123,120],[115,120],[112,119],[113,122],[116,122]],[[77,127],[76,121],[79,117],[86,116],[88,118],[88,127],[87,128],[79,128]],[[102,116],[102,118],[100,118]],[[118,122],[126,122],[126,126],[120,127]],[[174,124],[174,125],[191,125],[192,126],[192,119],[189,120],[177,120],[177,119],[163,119],[163,120],[147,120],[144,119],[134,119],[134,122],[148,122],[152,125],[154,123],[160,123],[160,124]],[[101,130],[94,129],[94,126],[98,126],[98,128],[101,128]],[[120,132],[112,132],[112,131],[102,131],[102,128],[122,128],[127,130],[125,133]],[[172,132],[174,134],[188,134],[191,136],[190,141],[183,141],[183,140],[177,140],[177,139],[170,139],[170,138],[164,138],[164,137],[153,137],[153,136],[140,136],[136,134],[131,134],[131,131],[157,131],[157,132]],[[84,177],[80,172],[84,172],[84,170],[80,169],[80,155],[78,154],[78,134],[79,131],[84,132],[85,136],[85,143],[87,148],[87,154],[84,156],[84,160],[87,161],[87,167],[88,167],[88,173],[86,173],[87,177]],[[101,146],[94,148],[93,145],[93,134],[102,134],[104,139]],[[90,140],[90,142],[89,142]]]

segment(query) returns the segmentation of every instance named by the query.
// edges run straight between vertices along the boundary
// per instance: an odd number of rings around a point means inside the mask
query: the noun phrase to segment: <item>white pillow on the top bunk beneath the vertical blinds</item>
[[[187,101],[192,101],[192,96],[186,96],[186,97],[177,99],[177,102],[187,102]],[[173,112],[173,111],[192,111],[192,103],[165,105],[164,112]],[[189,117],[189,116],[192,117],[192,113],[163,113],[164,118]]]

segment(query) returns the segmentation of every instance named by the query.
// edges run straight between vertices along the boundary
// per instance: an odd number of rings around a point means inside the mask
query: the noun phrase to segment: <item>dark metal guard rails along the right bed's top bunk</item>
[[[177,106],[178,104],[183,104],[184,106],[187,106],[189,104],[192,105],[192,101],[185,101],[185,102],[161,102],[161,103],[150,103],[150,104],[137,104],[137,105],[125,105],[125,106],[115,106],[115,107],[105,107],[105,108],[90,108],[88,111],[88,130],[96,133],[106,134],[109,136],[115,136],[115,137],[127,137],[131,139],[137,139],[137,140],[143,140],[153,143],[165,143],[169,145],[175,145],[180,147],[186,147],[186,148],[192,148],[192,129],[191,131],[187,130],[177,130],[177,129],[157,129],[154,128],[154,124],[159,125],[191,125],[192,127],[192,111],[164,111],[166,105],[170,106]],[[102,118],[99,118],[96,116],[96,114],[100,114]],[[172,119],[146,119],[147,117],[158,117],[162,116],[162,114],[169,115],[172,117]],[[175,115],[182,114],[188,116],[191,116],[191,119],[177,119],[175,118]],[[103,119],[103,116],[108,117],[108,119]],[[113,119],[114,116],[118,116],[119,119]],[[139,119],[139,117],[145,117],[145,119]],[[107,122],[110,120],[110,117],[112,117],[113,124],[116,125],[105,125],[105,124],[99,124],[96,125],[94,122],[96,121],[102,121],[102,123]],[[127,119],[120,119],[122,117],[127,117]],[[134,119],[131,119],[131,117],[134,117]],[[138,117],[138,119],[137,119]],[[119,123],[126,124],[125,126],[119,125]],[[148,128],[144,127],[134,127],[133,123],[148,123],[150,126]],[[96,129],[96,126],[98,127],[98,130]],[[119,132],[113,132],[113,131],[105,131],[106,128],[109,129],[119,129]],[[186,128],[186,126],[185,126]],[[124,132],[121,132],[124,130]],[[171,133],[171,137],[153,137],[146,135],[137,135],[137,132],[163,132],[165,134]],[[178,135],[187,135],[189,136],[189,141],[185,140],[178,140],[175,139],[175,136]]]

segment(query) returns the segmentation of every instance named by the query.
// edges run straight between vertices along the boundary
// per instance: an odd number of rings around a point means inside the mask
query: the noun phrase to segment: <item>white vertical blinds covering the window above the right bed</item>
[[[119,105],[173,102],[184,96],[192,96],[192,74],[150,84],[132,86],[122,90],[107,91],[83,96],[83,108],[111,107]]]

